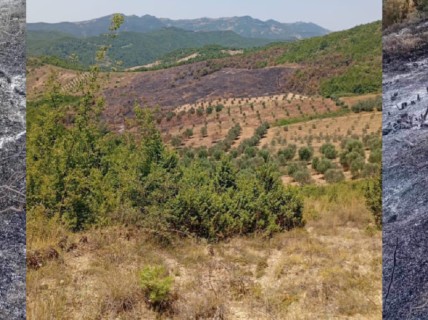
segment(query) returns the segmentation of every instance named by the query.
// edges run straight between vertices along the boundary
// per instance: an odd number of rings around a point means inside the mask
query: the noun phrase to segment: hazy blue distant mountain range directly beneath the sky
[[[70,33],[77,37],[91,37],[105,33],[110,25],[110,19],[111,15],[80,22],[27,23],[27,30],[59,31]],[[142,17],[130,15],[125,16],[125,22],[121,26],[121,30],[144,33],[163,27],[177,27],[192,31],[234,31],[243,37],[276,40],[302,39],[323,36],[329,33],[329,30],[314,23],[262,21],[249,16],[172,20],[151,15]]]

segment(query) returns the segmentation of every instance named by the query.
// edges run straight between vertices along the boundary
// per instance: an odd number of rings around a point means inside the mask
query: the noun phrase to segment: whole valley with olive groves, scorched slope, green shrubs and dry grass
[[[30,57],[27,316],[379,319],[377,36]]]

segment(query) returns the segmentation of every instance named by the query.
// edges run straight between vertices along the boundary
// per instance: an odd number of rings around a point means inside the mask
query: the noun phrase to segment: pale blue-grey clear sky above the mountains
[[[251,16],[339,31],[380,20],[382,0],[27,0],[27,22],[83,21],[112,13],[170,19]]]

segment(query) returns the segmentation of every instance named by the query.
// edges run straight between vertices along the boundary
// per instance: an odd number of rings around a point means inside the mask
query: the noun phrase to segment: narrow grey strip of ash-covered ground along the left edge
[[[25,1],[0,0],[0,320],[25,319]]]

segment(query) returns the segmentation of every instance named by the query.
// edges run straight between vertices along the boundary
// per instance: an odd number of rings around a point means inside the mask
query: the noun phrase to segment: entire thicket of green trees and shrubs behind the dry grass
[[[99,62],[105,52],[97,54]],[[69,98],[60,94],[55,74],[45,103],[37,105],[37,115],[30,112],[29,216],[57,217],[73,230],[120,220],[144,224],[160,236],[177,230],[206,238],[272,234],[304,224],[303,200],[282,185],[274,163],[246,171],[227,156],[183,164],[165,148],[154,112],[137,104],[138,134],[100,130],[104,101],[95,98],[98,75],[94,66],[83,80],[86,94],[73,125],[64,124],[61,105]]]

